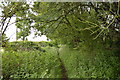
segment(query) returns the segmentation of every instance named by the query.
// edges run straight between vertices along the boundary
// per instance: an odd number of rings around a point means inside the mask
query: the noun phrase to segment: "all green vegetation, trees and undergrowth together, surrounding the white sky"
[[[120,78],[120,1],[3,2],[0,8],[3,79]],[[5,31],[14,16],[17,39],[9,42]],[[33,29],[51,41],[27,41]]]

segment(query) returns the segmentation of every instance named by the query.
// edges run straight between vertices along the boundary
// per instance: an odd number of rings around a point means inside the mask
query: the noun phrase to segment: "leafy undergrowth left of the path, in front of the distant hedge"
[[[59,61],[53,54],[47,52],[6,51],[3,54],[3,77],[59,78]]]

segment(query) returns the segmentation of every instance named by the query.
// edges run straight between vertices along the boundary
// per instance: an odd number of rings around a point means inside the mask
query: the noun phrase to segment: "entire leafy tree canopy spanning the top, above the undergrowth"
[[[40,31],[36,35],[73,46],[120,40],[120,2],[10,2],[2,8],[2,34],[14,16],[23,40],[31,28]]]

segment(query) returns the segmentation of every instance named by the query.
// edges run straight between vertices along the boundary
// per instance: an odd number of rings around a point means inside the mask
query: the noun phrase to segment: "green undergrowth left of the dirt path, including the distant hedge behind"
[[[60,63],[55,53],[48,52],[52,47],[46,43],[10,43],[9,48],[2,54],[3,77],[5,79],[60,78]]]

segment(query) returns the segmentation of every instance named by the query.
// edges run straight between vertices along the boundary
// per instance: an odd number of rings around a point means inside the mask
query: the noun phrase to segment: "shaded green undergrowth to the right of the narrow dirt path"
[[[83,48],[75,50],[63,46],[60,49],[69,78],[120,78],[119,57],[114,51]]]

